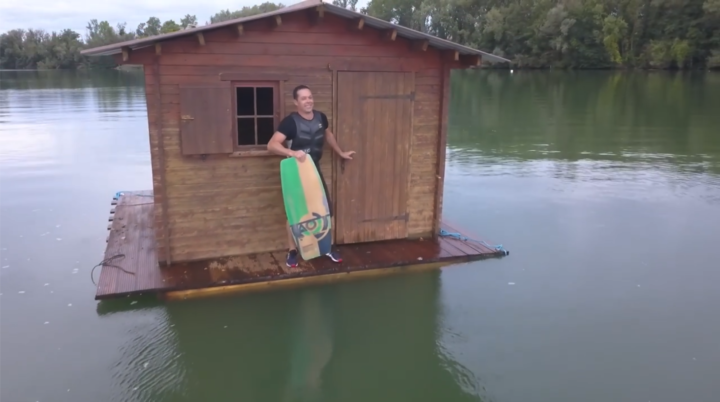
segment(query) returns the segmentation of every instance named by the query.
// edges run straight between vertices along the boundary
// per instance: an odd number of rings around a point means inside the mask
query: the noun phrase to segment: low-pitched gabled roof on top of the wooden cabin
[[[256,21],[259,19],[272,17],[275,15],[283,15],[283,14],[289,14],[295,11],[302,11],[307,10],[313,7],[317,7],[319,5],[323,6],[323,9],[325,12],[338,15],[340,17],[344,17],[347,19],[355,19],[355,18],[362,18],[365,21],[365,25],[377,28],[377,29],[395,29],[397,31],[397,35],[410,39],[410,40],[427,40],[428,45],[432,46],[437,49],[441,50],[456,50],[461,55],[472,55],[472,56],[480,56],[483,61],[489,61],[489,62],[510,62],[510,60],[505,59],[500,56],[496,56],[494,54],[486,53],[477,49],[473,49],[471,47],[463,46],[445,39],[440,39],[436,36],[429,35],[420,31],[416,31],[414,29],[406,28],[400,25],[393,24],[391,22],[383,21],[379,18],[371,17],[369,15],[365,15],[356,11],[352,11],[347,8],[338,7],[336,5],[325,3],[322,0],[305,0],[297,4],[293,4],[287,7],[283,7],[274,11],[270,11],[267,13],[262,14],[256,14],[249,17],[243,17],[243,18],[236,18],[234,20],[227,20],[218,22],[215,24],[208,24],[199,26],[196,28],[190,28],[190,29],[183,29],[176,32],[170,32],[162,35],[155,35],[150,36],[147,38],[140,38],[140,39],[133,39],[125,42],[119,42],[119,43],[113,43],[111,45],[105,45],[105,46],[99,46],[94,47],[91,49],[85,49],[81,51],[81,54],[84,55],[91,55],[91,56],[106,56],[106,55],[112,55],[112,54],[118,54],[122,52],[122,48],[129,48],[131,50],[141,49],[144,47],[152,46],[155,43],[166,41],[168,39],[178,38],[182,36],[188,36],[188,35],[194,35],[198,32],[205,32],[210,31],[226,26],[232,26],[240,23],[250,22],[250,21]]]

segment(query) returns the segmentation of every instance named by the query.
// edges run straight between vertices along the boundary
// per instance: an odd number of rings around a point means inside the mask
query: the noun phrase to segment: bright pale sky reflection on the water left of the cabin
[[[1,71],[5,191],[20,196],[66,192],[68,186],[83,185],[67,177],[148,165],[143,79],[137,71]],[[15,201],[24,202],[3,199],[6,205]]]

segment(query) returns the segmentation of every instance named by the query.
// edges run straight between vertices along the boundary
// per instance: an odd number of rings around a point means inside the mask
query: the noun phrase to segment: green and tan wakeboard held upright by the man
[[[285,213],[295,245],[304,260],[330,252],[332,228],[327,195],[310,156],[303,162],[287,158],[280,162]]]

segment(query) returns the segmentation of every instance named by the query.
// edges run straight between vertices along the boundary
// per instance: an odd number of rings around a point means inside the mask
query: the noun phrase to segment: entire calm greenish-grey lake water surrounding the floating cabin
[[[142,85],[0,72],[3,402],[718,400],[719,74],[456,74],[445,215],[507,258],[98,303]]]

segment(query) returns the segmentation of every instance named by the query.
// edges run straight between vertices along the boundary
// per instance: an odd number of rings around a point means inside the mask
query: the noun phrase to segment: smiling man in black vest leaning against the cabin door
[[[310,88],[305,85],[298,85],[293,89],[293,100],[297,111],[290,113],[285,117],[278,126],[277,131],[270,138],[267,149],[277,155],[295,157],[299,161],[304,161],[306,154],[304,150],[310,151],[310,158],[315,162],[320,174],[320,181],[325,189],[328,200],[328,209],[330,217],[333,216],[333,208],[330,202],[330,193],[325,184],[325,178],[320,171],[320,159],[322,158],[323,145],[327,138],[330,147],[343,159],[352,159],[355,151],[343,152],[335,141],[335,135],[328,127],[328,120],[325,113],[314,110],[313,97]],[[286,148],[283,143],[291,141],[290,148]],[[287,225],[288,233],[288,255],[285,264],[288,267],[297,267],[297,248],[290,231],[290,225]],[[342,259],[337,251],[331,251],[327,254],[330,259],[335,262],[341,262]]]

